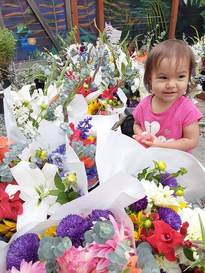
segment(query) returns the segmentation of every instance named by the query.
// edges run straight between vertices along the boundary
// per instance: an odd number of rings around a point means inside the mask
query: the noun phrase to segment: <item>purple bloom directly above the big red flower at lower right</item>
[[[157,213],[159,214],[159,220],[164,221],[175,230],[180,229],[181,218],[172,208],[159,208]]]

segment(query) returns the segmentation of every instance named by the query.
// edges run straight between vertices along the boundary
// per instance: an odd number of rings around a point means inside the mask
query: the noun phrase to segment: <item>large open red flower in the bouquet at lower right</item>
[[[167,260],[176,261],[174,247],[178,247],[183,243],[183,236],[164,221],[157,220],[153,224],[155,227],[154,232],[149,232],[149,235],[142,237],[142,240],[148,242],[159,253],[163,252]]]

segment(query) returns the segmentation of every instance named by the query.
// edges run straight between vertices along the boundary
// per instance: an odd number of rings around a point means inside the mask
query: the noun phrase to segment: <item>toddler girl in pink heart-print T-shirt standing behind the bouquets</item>
[[[202,115],[186,97],[193,89],[194,65],[192,50],[179,40],[161,42],[149,52],[144,86],[152,95],[133,111],[135,135],[147,131],[153,136],[153,142],[142,140],[149,148],[170,148],[192,154],[197,146],[198,121]]]

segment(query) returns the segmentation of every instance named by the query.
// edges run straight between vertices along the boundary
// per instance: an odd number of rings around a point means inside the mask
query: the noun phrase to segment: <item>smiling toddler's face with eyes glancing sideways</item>
[[[189,62],[186,59],[171,61],[163,59],[157,71],[153,69],[150,78],[152,92],[165,102],[174,102],[186,91],[189,78]]]

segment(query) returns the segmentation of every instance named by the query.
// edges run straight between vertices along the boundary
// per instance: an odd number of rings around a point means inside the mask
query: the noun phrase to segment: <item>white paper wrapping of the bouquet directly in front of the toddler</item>
[[[194,156],[173,149],[146,149],[136,140],[116,134],[114,131],[97,134],[96,165],[100,183],[121,170],[137,177],[144,168],[150,166],[153,169],[152,160],[164,160],[169,173],[177,172],[180,167],[188,170],[185,175],[177,177],[178,183],[187,186],[184,194],[187,202],[205,195],[205,170]]]

